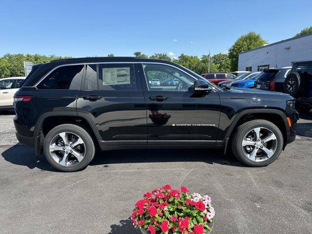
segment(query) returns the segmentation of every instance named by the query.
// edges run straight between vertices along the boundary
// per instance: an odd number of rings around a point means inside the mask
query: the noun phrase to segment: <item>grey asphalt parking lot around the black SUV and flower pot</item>
[[[312,233],[312,113],[273,164],[249,168],[219,150],[102,152],[75,173],[54,170],[0,116],[0,233],[138,234],[129,216],[146,191],[170,183],[212,197],[213,234]]]

